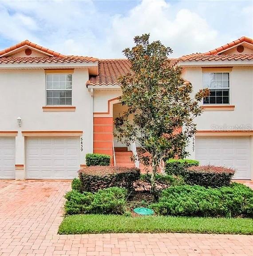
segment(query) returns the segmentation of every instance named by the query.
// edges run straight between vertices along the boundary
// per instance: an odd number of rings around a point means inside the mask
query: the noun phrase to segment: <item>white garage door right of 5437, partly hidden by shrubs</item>
[[[250,138],[209,137],[196,138],[195,158],[200,164],[232,167],[234,179],[250,179]]]

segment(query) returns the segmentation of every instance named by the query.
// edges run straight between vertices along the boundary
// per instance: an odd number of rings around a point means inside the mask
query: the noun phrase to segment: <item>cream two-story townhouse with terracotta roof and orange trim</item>
[[[253,40],[241,37],[171,65],[182,66],[194,92],[210,88],[190,157],[253,179]],[[113,120],[124,110],[117,78],[129,69],[124,59],[65,56],[28,40],[1,51],[0,178],[69,179],[88,152],[117,164],[115,149],[126,148],[113,138]]]

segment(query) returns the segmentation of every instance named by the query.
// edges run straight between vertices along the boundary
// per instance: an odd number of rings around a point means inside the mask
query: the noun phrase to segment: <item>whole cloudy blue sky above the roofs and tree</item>
[[[253,37],[252,0],[0,0],[0,49],[28,39],[67,55],[122,58],[133,37],[170,46],[173,57]]]

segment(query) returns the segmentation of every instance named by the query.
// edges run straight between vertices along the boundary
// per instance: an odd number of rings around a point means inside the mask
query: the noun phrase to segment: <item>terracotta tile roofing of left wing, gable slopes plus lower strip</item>
[[[40,50],[41,52],[45,52],[51,56],[48,57],[4,57],[7,53],[12,52],[20,47],[23,46],[30,46],[32,48],[35,48],[37,50]],[[4,56],[2,56],[4,55]],[[1,57],[2,56],[2,57]],[[38,44],[34,44],[30,42],[29,40],[24,40],[20,42],[19,44],[13,45],[9,48],[6,48],[2,51],[0,51],[0,63],[51,63],[51,62],[95,62],[97,61],[97,58],[93,57],[86,57],[86,56],[68,56],[60,54],[59,52],[52,51],[48,48],[44,48]]]

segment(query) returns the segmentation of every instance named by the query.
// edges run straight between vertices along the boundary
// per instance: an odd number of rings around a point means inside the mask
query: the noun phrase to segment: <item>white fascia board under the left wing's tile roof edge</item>
[[[89,68],[97,67],[96,62],[84,62],[84,63],[14,63],[14,64],[0,64],[0,69],[25,69],[25,68]]]

